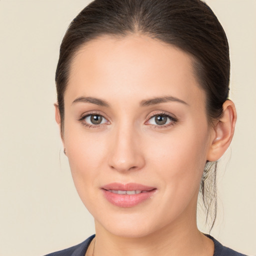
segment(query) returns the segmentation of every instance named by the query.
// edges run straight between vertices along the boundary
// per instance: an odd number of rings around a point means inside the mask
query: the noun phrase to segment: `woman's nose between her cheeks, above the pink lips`
[[[144,164],[140,137],[130,126],[117,128],[110,137],[108,165],[117,171],[138,170]]]

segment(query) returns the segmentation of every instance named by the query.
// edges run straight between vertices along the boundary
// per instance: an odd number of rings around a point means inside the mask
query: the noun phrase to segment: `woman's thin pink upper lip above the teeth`
[[[138,183],[122,184],[122,183],[114,182],[114,183],[109,183],[109,184],[103,185],[102,189],[105,189],[105,190],[123,190],[123,191],[132,191],[132,190],[150,191],[152,189],[155,189],[155,187],[142,185],[142,184],[138,184]]]

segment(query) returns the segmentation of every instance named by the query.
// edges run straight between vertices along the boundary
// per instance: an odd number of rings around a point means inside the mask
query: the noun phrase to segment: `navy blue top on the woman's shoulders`
[[[83,241],[77,245],[74,245],[74,246],[69,247],[64,250],[52,252],[45,256],[84,256],[85,252],[88,249],[88,246],[89,246],[91,240],[94,238],[94,236],[95,236],[95,234],[91,235],[85,241]],[[223,246],[220,242],[218,242],[216,239],[214,239],[209,234],[206,234],[206,236],[209,237],[210,239],[212,239],[214,242],[213,256],[246,256],[244,254],[241,254],[237,251],[234,251],[230,248]]]

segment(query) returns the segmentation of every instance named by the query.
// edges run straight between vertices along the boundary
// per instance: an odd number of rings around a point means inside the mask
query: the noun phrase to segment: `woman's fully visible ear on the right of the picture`
[[[223,115],[215,123],[211,144],[207,153],[208,161],[218,160],[228,148],[233,134],[236,122],[236,110],[231,100],[223,103]]]

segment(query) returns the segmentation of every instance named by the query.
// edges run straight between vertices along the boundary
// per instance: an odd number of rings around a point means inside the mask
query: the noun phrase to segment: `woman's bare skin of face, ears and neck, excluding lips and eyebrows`
[[[140,104],[166,96],[183,102]],[[205,162],[227,149],[236,113],[227,100],[223,116],[209,126],[205,102],[192,58],[172,45],[132,34],[101,36],[78,50],[64,94],[62,142],[77,192],[95,219],[94,255],[213,255],[212,240],[196,226],[196,201]],[[84,125],[90,116],[82,116],[91,113],[104,117],[99,125]],[[157,114],[171,118],[159,125]],[[100,189],[111,182],[156,191],[133,207],[118,207]]]

